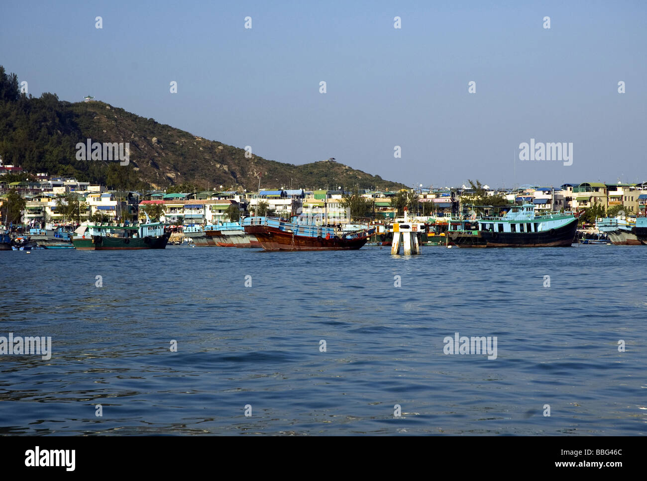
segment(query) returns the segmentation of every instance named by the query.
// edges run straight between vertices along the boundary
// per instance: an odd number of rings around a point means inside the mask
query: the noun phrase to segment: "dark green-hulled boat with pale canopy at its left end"
[[[164,249],[171,235],[163,222],[151,222],[148,215],[142,224],[82,224],[74,233],[72,242],[79,250]]]

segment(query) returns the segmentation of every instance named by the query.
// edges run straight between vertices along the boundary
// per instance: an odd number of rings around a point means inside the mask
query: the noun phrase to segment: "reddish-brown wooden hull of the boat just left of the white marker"
[[[325,239],[325,237],[292,235],[270,226],[245,226],[245,232],[254,235],[261,247],[269,251],[358,250],[368,240],[367,236],[355,239]]]

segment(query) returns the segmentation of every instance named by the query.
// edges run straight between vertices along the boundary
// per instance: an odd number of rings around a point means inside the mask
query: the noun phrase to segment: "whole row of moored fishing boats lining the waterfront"
[[[32,229],[28,234],[12,235],[0,226],[0,250],[38,248],[78,250],[164,249],[171,230],[162,222],[115,224],[85,222],[72,237],[69,231]],[[405,222],[407,221],[405,215]],[[176,244],[262,248],[264,250],[358,250],[365,245],[390,245],[393,223],[366,222],[327,226],[300,217],[290,221],[269,217],[247,217],[240,222],[188,224],[174,234]],[[410,223],[410,221],[409,221]],[[419,246],[456,247],[557,247],[579,244],[647,244],[647,217],[637,219],[597,219],[595,231],[584,231],[586,238],[576,239],[578,215],[570,212],[547,212],[537,215],[532,204],[512,206],[498,217],[448,218],[441,224],[420,222],[411,232],[413,251]],[[443,227],[446,230],[443,231]],[[591,237],[593,236],[593,237]],[[595,237],[597,236],[597,237]],[[415,239],[413,239],[415,237]],[[580,234],[578,233],[578,237]]]

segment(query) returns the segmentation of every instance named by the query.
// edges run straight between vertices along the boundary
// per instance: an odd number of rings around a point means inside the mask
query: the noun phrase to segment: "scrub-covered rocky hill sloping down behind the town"
[[[76,144],[129,142],[129,165],[77,160]],[[76,176],[111,187],[146,189],[194,184],[199,188],[336,186],[382,189],[404,187],[380,176],[323,160],[295,166],[253,155],[222,142],[207,140],[104,102],[71,103],[55,94],[39,98],[19,94],[15,74],[0,67],[0,155],[5,164],[30,173]]]

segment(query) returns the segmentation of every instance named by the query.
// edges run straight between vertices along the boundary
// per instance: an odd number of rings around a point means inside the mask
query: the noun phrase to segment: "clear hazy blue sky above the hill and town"
[[[416,187],[647,180],[646,50],[645,1],[0,6],[0,65],[34,96]],[[572,143],[572,164],[520,160],[531,139]]]

